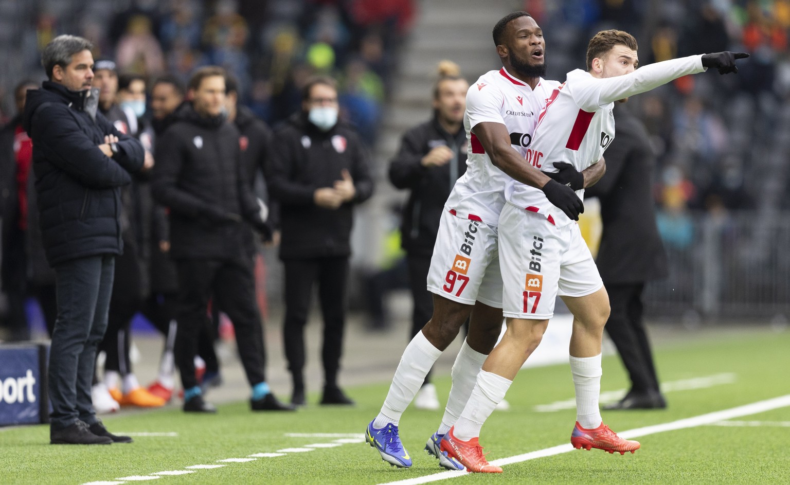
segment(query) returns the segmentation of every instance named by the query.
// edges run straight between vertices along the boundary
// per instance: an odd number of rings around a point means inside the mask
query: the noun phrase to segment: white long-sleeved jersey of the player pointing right
[[[584,70],[571,71],[567,80],[551,93],[540,113],[535,139],[525,150],[526,160],[542,171],[557,171],[555,162],[566,162],[583,171],[600,160],[615,137],[612,109],[616,100],[704,70],[702,55],[692,55],[603,79],[592,77]],[[584,200],[584,189],[576,194]],[[513,179],[508,180],[505,197],[521,209],[546,216],[558,227],[574,222],[551,204],[542,190]]]

